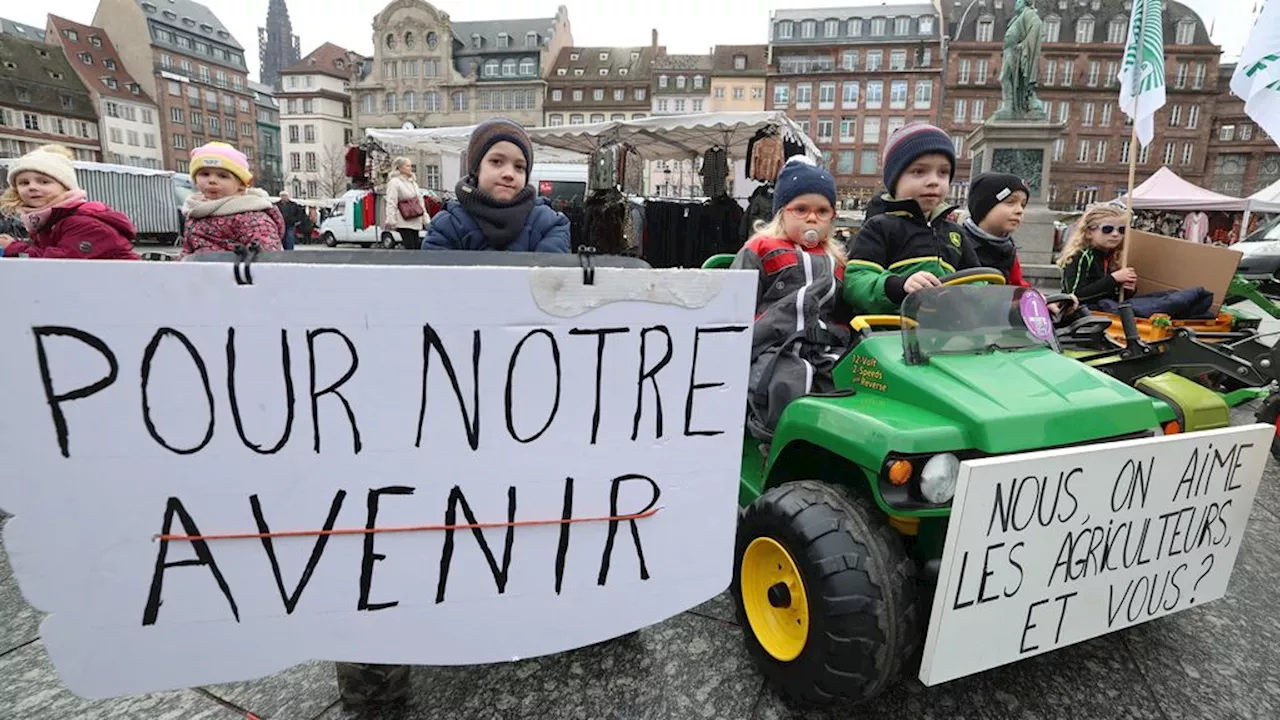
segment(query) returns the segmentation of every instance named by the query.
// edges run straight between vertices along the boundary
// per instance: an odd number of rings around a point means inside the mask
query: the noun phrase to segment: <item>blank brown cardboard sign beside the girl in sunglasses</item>
[[[1129,265],[1138,273],[1138,295],[1203,287],[1213,293],[1213,311],[1222,306],[1243,254],[1176,237],[1130,231]]]

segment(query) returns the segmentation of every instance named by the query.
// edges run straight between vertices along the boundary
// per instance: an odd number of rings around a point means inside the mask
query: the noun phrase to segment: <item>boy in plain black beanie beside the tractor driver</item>
[[[961,224],[973,243],[978,264],[1005,273],[1009,284],[1030,287],[1014,246],[1014,231],[1023,224],[1023,211],[1032,188],[1018,176],[983,173],[969,187],[969,217]]]

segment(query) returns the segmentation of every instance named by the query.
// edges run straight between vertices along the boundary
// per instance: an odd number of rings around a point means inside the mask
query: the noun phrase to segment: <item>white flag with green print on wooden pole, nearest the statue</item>
[[[1165,28],[1161,0],[1134,0],[1129,42],[1120,65],[1120,109],[1133,118],[1138,142],[1156,136],[1156,110],[1165,106]]]

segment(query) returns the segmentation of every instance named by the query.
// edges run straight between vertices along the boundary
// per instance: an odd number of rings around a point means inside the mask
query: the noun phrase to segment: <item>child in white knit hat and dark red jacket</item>
[[[133,223],[101,202],[90,202],[76,182],[74,155],[45,145],[9,167],[0,214],[18,215],[29,240],[0,234],[3,258],[137,260]]]

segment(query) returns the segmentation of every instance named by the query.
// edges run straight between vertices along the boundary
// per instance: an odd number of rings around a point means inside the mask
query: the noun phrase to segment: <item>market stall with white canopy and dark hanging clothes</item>
[[[388,147],[457,158],[451,165],[461,167],[472,129],[370,128],[366,133]],[[767,219],[772,211],[772,182],[786,158],[822,156],[794,120],[774,111],[662,115],[527,132],[535,167],[588,164],[575,247],[631,251],[657,268],[696,266],[710,255],[736,251],[753,220]],[[646,193],[644,164],[653,160],[699,161],[701,195]]]

